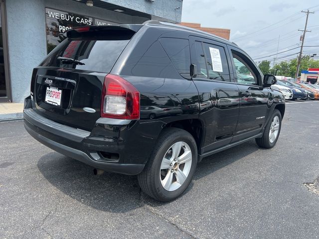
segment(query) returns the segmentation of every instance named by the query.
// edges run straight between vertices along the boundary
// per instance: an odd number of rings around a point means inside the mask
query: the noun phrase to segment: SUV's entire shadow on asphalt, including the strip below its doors
[[[197,165],[194,181],[258,149],[255,140],[251,140],[204,158]],[[166,204],[142,195],[136,176],[109,172],[94,176],[93,167],[56,152],[43,155],[37,166],[47,181],[61,192],[97,210],[123,213],[142,207],[144,203],[152,206]],[[183,195],[187,194],[193,185],[191,182]]]

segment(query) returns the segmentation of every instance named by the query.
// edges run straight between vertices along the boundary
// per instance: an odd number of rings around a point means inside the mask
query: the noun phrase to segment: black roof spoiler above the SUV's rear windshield
[[[109,40],[131,39],[132,36],[141,29],[143,24],[121,24],[110,26],[81,26],[69,29],[63,35],[69,39],[87,38],[103,36]]]

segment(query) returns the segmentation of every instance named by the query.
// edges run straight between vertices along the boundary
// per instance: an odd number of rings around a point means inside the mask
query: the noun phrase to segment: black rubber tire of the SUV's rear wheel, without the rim
[[[179,141],[186,142],[191,150],[192,161],[190,170],[185,181],[174,191],[167,191],[161,184],[161,163],[167,150]],[[180,196],[191,182],[197,165],[197,146],[193,136],[187,131],[180,128],[165,128],[160,134],[160,137],[154,147],[154,151],[145,165],[142,173],[138,175],[139,185],[144,193],[150,197],[168,202]]]

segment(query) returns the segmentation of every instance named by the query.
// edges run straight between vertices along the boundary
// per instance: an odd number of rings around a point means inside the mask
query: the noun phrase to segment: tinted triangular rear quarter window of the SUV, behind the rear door
[[[188,40],[180,38],[161,38],[160,44],[178,73],[182,77],[190,79],[190,51]]]

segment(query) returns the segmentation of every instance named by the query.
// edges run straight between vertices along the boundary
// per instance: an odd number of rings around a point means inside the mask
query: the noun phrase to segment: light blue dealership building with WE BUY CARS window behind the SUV
[[[182,0],[0,0],[0,103],[22,103],[32,69],[85,25],[181,21]]]

